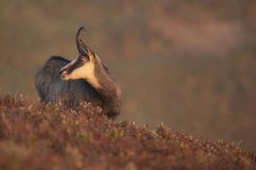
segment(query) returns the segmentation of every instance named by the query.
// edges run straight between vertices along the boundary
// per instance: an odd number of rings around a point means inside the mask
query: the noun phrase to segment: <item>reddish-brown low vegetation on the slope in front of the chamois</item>
[[[68,110],[0,97],[0,169],[254,169],[235,144],[108,120],[84,104]]]

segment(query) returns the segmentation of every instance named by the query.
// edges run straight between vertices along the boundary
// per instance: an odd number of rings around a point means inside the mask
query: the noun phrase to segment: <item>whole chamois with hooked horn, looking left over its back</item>
[[[64,99],[66,106],[78,107],[83,101],[100,106],[112,119],[120,112],[120,88],[108,68],[80,39],[82,26],[78,29],[76,43],[79,55],[68,60],[52,56],[35,76],[39,98],[45,103]]]

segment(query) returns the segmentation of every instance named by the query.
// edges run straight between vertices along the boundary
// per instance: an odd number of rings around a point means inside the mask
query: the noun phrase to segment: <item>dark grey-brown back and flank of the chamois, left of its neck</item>
[[[76,107],[85,100],[101,106],[99,93],[85,80],[65,81],[60,77],[60,69],[68,62],[70,60],[54,56],[38,71],[35,85],[41,101],[65,99],[70,107]]]

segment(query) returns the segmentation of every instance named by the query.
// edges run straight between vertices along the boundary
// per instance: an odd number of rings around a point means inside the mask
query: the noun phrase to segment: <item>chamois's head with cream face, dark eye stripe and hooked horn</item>
[[[60,76],[64,80],[84,78],[92,85],[99,86],[98,79],[95,76],[97,55],[80,39],[82,30],[85,30],[85,27],[80,27],[76,35],[79,55],[60,70]]]

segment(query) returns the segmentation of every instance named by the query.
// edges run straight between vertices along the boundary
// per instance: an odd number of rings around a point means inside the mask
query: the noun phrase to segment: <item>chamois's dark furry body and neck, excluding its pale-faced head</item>
[[[101,84],[101,89],[95,89],[83,79],[63,80],[60,70],[70,60],[62,57],[51,57],[35,76],[35,86],[42,102],[56,102],[64,99],[68,107],[75,108],[82,101],[91,102],[100,106],[108,117],[116,118],[120,111],[119,86],[110,75],[108,69],[96,63],[96,75]]]

